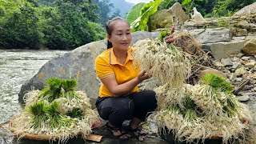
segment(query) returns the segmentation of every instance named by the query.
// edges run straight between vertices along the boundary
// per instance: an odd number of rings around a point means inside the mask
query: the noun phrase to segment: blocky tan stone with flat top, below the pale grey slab
[[[202,49],[211,51],[214,58],[219,60],[221,58],[229,58],[230,54],[239,54],[242,52],[242,47],[246,43],[243,41],[230,41],[230,42],[215,42],[202,45]]]

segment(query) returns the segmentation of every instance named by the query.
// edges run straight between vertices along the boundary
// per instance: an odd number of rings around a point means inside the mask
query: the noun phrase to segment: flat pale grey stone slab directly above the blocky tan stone
[[[195,29],[189,30],[189,33],[198,39],[202,44],[213,42],[229,42],[230,29],[228,28],[215,28],[215,29]]]

